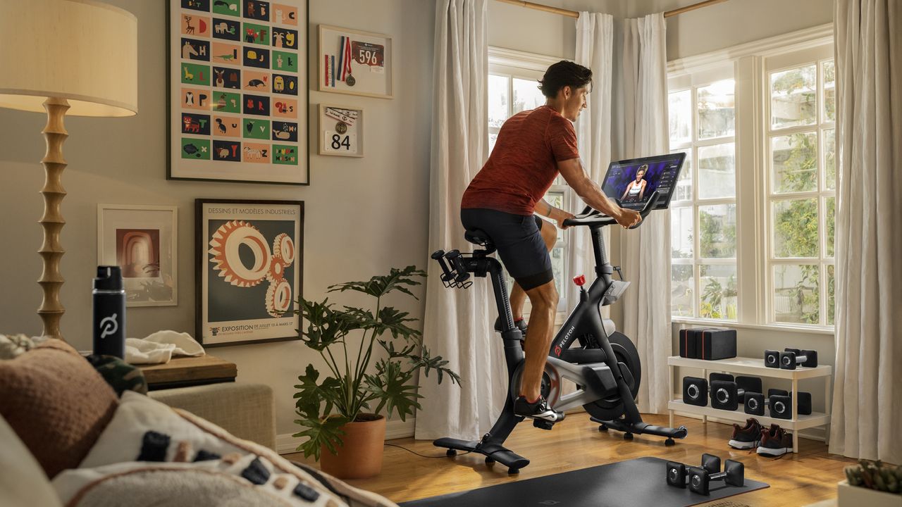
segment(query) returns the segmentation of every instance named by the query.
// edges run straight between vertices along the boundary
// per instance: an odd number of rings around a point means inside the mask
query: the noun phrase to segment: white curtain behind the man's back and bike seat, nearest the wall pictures
[[[433,72],[432,160],[429,177],[429,251],[470,251],[460,223],[460,199],[488,156],[487,0],[440,0],[436,7]],[[422,409],[416,438],[478,438],[492,427],[504,405],[507,370],[491,282],[467,290],[446,289],[441,269],[430,260],[423,343],[448,360],[462,385],[434,374],[420,376]],[[488,312],[486,311],[488,309]]]

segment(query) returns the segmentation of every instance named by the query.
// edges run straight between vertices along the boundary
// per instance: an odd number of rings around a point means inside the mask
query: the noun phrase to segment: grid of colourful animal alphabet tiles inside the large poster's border
[[[306,156],[298,144],[307,51],[299,8],[260,0],[179,4],[181,159],[297,166]]]

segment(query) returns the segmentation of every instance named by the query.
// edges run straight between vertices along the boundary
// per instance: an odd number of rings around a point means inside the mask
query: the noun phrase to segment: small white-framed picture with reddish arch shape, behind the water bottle
[[[125,306],[179,304],[178,220],[178,207],[97,205],[97,263],[122,268]]]

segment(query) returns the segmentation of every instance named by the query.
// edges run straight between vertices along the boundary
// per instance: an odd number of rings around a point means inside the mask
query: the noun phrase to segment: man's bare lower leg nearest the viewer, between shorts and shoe
[[[526,364],[520,383],[520,396],[527,401],[538,400],[545,371],[545,361],[554,334],[557,313],[557,288],[555,281],[548,281],[526,292],[532,311],[529,314],[529,339],[526,340]]]

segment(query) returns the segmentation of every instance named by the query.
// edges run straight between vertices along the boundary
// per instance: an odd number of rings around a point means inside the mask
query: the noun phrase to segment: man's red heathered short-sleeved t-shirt
[[[557,162],[575,158],[579,152],[570,120],[548,106],[517,113],[502,125],[492,155],[460,207],[532,215],[557,178]]]

